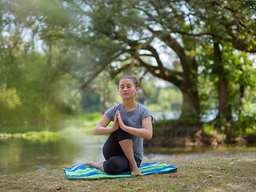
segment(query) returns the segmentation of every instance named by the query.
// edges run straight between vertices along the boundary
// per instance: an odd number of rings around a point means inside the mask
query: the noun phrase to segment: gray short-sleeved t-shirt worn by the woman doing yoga
[[[132,126],[134,128],[142,128],[142,119],[146,118],[148,116],[153,116],[150,112],[150,110],[143,106],[138,102],[138,106],[130,111],[127,112],[125,108],[122,106],[122,103],[116,106],[110,107],[110,109],[106,110],[105,114],[108,118],[110,118],[110,121],[114,121],[114,116],[116,114],[116,111],[120,111],[120,115],[122,118],[122,122],[126,124],[126,126]],[[133,140],[133,149],[134,149],[134,156],[136,158],[139,158],[141,161],[143,160],[143,138],[138,138],[134,135],[132,135]]]

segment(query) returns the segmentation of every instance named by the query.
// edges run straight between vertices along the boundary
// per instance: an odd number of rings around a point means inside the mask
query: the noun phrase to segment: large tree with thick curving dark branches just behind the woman
[[[182,40],[178,42],[175,34],[166,27],[166,23],[176,17],[179,27],[188,30],[185,15],[178,14],[182,3],[171,5],[169,2],[152,1],[86,2],[91,8],[89,16],[92,38],[100,36],[101,39],[119,43],[123,48],[122,60],[131,58],[126,66],[142,66],[154,76],[174,83],[183,95],[182,116],[196,114],[196,117],[199,117],[197,77],[194,73],[197,62],[194,55],[186,54],[186,51],[194,49],[196,41],[178,36]],[[166,10],[166,6],[174,11],[171,13],[170,10]],[[164,19],[168,21],[162,22]],[[157,26],[159,30],[156,30]],[[174,51],[182,71],[173,70],[171,62],[162,62],[156,48],[158,42]],[[191,42],[195,42],[194,45]],[[147,62],[153,59],[154,62]],[[126,69],[126,66],[122,68]],[[122,70],[120,67],[117,68]]]

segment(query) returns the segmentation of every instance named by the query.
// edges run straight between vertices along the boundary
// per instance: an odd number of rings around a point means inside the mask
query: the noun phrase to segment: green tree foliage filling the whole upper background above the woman
[[[181,119],[199,121],[218,108],[222,127],[233,114],[246,119],[244,105],[255,99],[254,1],[2,0],[0,6],[1,121],[50,122],[54,114],[80,110],[81,90],[90,101],[88,93],[101,95],[97,101],[108,107],[114,85],[106,88],[104,77],[116,83],[128,72],[142,78],[142,101],[156,91],[148,74],[176,86],[182,99],[158,94],[182,101]]]

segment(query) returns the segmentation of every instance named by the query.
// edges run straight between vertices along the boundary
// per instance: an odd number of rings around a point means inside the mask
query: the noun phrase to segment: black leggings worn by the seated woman
[[[106,158],[103,168],[108,174],[119,174],[130,171],[130,163],[119,144],[124,139],[132,139],[131,134],[119,128],[110,134],[103,146],[102,151],[104,158]],[[139,167],[142,161],[135,156],[134,159]]]

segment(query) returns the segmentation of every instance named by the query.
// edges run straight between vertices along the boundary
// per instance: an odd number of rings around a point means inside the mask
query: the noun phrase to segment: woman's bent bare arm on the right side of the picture
[[[119,114],[119,111],[117,111],[118,113],[118,124],[120,126],[120,128],[124,131],[126,131],[129,134],[133,134],[139,138],[146,138],[146,139],[151,139],[153,136],[153,126],[152,126],[152,117],[148,116],[146,118],[142,119],[142,128],[138,129],[138,128],[134,128],[131,126],[126,126],[123,122],[122,122],[122,118]]]

